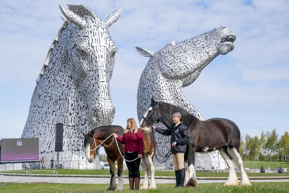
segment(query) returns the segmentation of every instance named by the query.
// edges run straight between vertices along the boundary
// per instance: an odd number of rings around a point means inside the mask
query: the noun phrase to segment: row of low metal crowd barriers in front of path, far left
[[[25,182],[32,181],[56,181],[57,171],[55,170],[21,170],[21,171],[4,171],[0,173],[0,182],[3,181],[5,185],[8,182]]]

